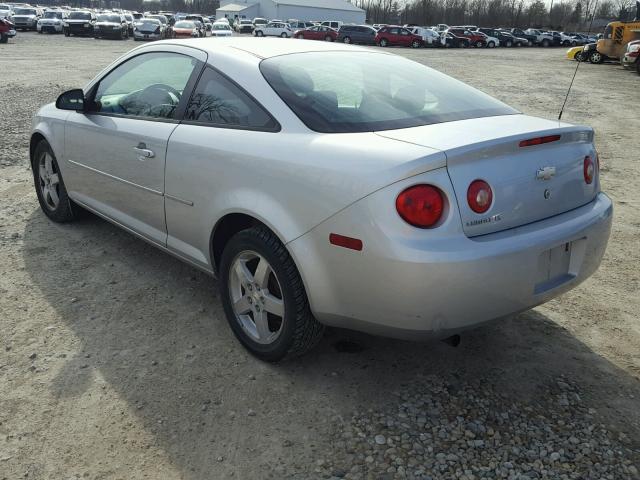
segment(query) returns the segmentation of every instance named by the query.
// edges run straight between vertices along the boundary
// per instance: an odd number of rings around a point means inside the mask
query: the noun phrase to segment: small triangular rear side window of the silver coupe
[[[202,73],[187,104],[185,120],[248,130],[279,128],[261,105],[210,67]]]

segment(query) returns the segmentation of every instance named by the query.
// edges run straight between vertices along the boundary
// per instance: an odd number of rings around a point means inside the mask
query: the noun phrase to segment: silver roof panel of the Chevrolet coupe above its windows
[[[160,42],[154,42],[156,45]],[[279,55],[289,55],[303,52],[328,52],[328,51],[370,51],[363,47],[345,45],[334,42],[302,42],[300,40],[285,38],[196,38],[189,40],[165,40],[162,43],[171,43],[185,47],[195,47],[208,53],[219,53],[226,50],[228,53],[238,55],[244,52],[259,58],[270,58]]]

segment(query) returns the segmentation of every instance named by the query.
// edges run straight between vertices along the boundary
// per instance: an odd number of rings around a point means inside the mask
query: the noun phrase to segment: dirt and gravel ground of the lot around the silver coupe
[[[639,478],[635,73],[583,65],[565,111],[595,128],[616,208],[592,279],[457,348],[332,330],[268,365],[214,279],[39,211],[31,116],[133,46],[19,33],[0,49],[0,479]],[[395,52],[548,118],[575,67],[557,49]]]

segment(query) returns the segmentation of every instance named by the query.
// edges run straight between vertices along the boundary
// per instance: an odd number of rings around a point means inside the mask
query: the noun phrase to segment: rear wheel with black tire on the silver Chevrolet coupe
[[[262,280],[256,280],[254,274],[258,271],[257,265],[262,262],[266,262],[270,272]],[[238,271],[250,275],[244,276]],[[251,282],[254,286],[249,293]],[[255,288],[255,285],[260,285],[262,290]],[[285,357],[302,355],[322,338],[324,327],[311,314],[304,285],[293,259],[278,237],[266,227],[243,230],[229,240],[220,261],[220,293],[234,335],[249,352],[262,360],[277,362]],[[269,296],[275,301],[273,305],[283,309],[280,310],[283,311],[281,316],[265,316],[267,305],[271,302],[265,302],[264,298]],[[240,308],[246,313],[237,314],[234,305],[240,304],[243,299],[245,302]],[[264,304],[262,311],[259,308],[261,304]],[[236,310],[240,308],[236,307]],[[264,323],[261,323],[262,333],[258,332],[254,315],[261,315],[264,319]],[[267,339],[260,340],[264,335]]]

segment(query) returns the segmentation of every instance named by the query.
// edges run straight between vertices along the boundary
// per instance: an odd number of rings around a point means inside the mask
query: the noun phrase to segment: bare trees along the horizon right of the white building
[[[353,0],[369,23],[478,25],[586,30],[592,18],[632,20],[635,0]],[[594,17],[595,16],[595,17]],[[594,27],[595,30],[595,27]]]

